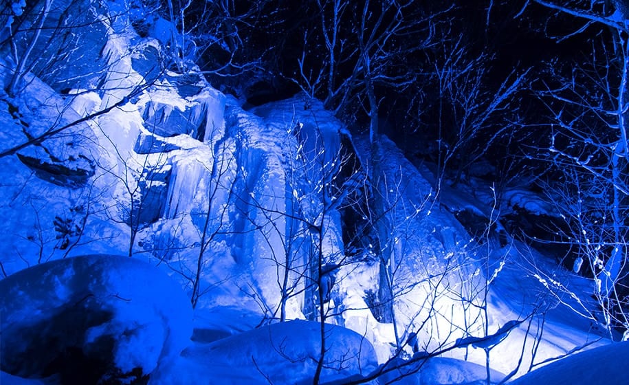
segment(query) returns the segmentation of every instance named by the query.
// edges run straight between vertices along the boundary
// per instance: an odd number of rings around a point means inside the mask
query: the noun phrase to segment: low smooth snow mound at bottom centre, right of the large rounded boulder
[[[325,325],[322,382],[366,375],[377,366],[371,344],[349,329]],[[211,344],[189,347],[150,384],[311,383],[320,356],[320,324],[280,322]],[[236,369],[237,370],[234,370]]]

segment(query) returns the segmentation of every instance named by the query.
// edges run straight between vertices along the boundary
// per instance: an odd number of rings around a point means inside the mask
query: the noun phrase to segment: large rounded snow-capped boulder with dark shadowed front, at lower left
[[[0,281],[3,371],[66,384],[127,380],[171,360],[192,335],[181,288],[151,265],[91,255]]]

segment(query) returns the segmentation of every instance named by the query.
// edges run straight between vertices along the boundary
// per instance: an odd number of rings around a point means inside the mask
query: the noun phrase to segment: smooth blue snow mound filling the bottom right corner
[[[608,344],[557,362],[509,382],[509,385],[621,385],[627,384],[629,342]]]

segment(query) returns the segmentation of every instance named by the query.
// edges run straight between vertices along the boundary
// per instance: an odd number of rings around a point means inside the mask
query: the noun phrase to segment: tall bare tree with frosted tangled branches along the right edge
[[[629,13],[623,1],[533,2],[549,11],[550,20],[575,21],[575,29],[560,36],[544,31],[551,39],[597,31],[580,63],[553,61],[538,82],[549,138],[536,156],[562,179],[564,186],[549,187],[558,192],[558,210],[569,228],[566,243],[591,267],[593,292],[610,329],[611,309],[623,314],[626,295]],[[626,327],[623,316],[618,321]]]

